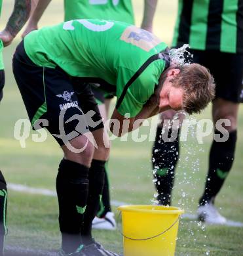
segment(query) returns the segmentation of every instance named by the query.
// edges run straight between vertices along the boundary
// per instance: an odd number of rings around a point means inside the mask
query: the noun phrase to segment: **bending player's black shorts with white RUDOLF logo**
[[[33,129],[47,127],[62,146],[88,131],[103,128],[90,85],[59,67],[35,65],[23,42],[14,53],[13,72]]]

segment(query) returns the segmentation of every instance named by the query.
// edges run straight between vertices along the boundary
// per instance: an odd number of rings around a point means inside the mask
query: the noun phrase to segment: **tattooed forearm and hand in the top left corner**
[[[10,45],[17,33],[20,32],[29,18],[31,11],[31,0],[15,0],[14,11],[7,22],[5,30],[0,32],[0,39],[6,47]]]

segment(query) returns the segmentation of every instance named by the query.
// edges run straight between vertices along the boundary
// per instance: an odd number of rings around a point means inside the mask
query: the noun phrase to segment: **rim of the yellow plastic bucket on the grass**
[[[161,208],[164,209],[163,211],[155,211],[152,209],[140,209],[137,208],[138,206],[140,207],[147,207],[147,206],[153,206],[156,208]],[[168,208],[170,208],[171,210],[168,210]],[[121,205],[119,207],[117,207],[117,209],[119,209],[119,211],[127,211],[127,212],[141,212],[141,213],[150,213],[150,214],[158,214],[158,215],[168,215],[168,214],[177,214],[177,215],[181,215],[183,213],[185,213],[185,211],[183,209],[180,209],[179,207],[174,207],[174,206],[163,206],[163,205]],[[166,210],[167,209],[167,210]]]

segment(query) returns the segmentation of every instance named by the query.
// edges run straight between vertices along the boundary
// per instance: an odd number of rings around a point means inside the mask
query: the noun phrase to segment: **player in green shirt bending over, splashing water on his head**
[[[198,64],[170,66],[168,47],[155,35],[105,20],[29,33],[16,49],[13,72],[34,129],[47,127],[64,152],[56,179],[61,255],[116,255],[91,232],[109,141],[90,83],[117,96],[110,129],[121,136],[164,110],[200,112],[214,97],[212,75]]]

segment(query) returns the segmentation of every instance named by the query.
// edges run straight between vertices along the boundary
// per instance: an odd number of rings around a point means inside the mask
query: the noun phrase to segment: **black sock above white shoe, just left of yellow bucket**
[[[105,217],[105,214],[111,211],[111,200],[109,196],[109,179],[107,175],[107,162],[105,163],[105,183],[103,184],[102,200],[98,209],[97,216],[100,218]]]

